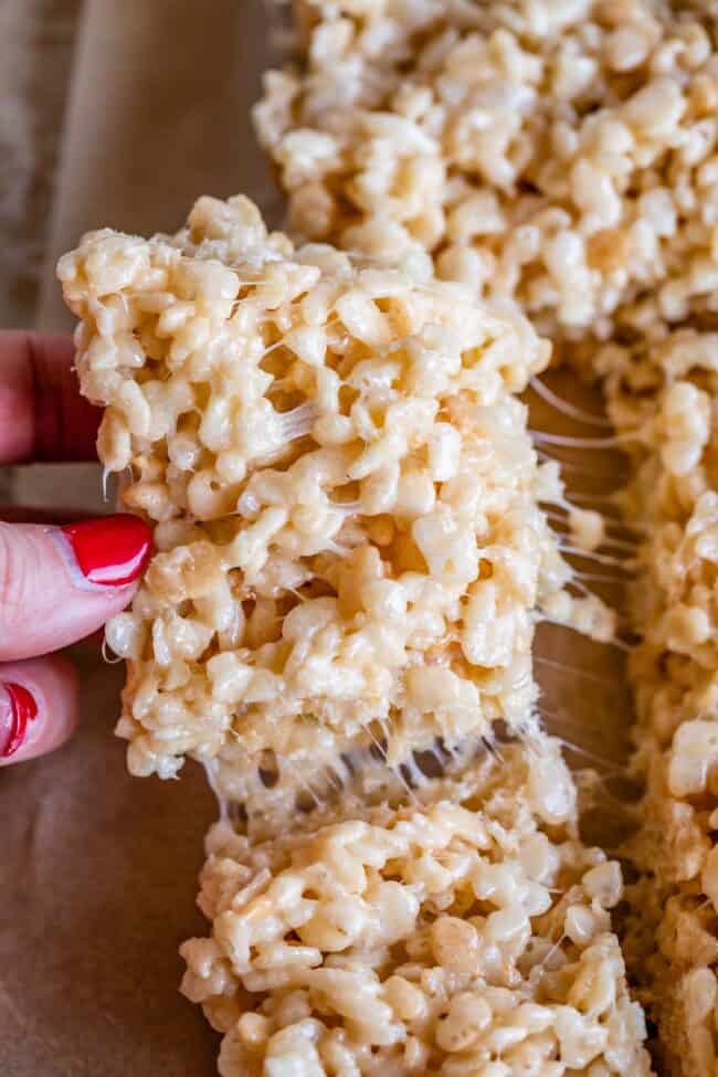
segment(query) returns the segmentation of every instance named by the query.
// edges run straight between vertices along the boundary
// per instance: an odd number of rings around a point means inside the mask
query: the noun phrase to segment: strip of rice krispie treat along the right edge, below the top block
[[[645,528],[630,664],[646,781],[629,953],[668,1071],[718,1066],[718,335],[606,346],[619,430],[641,430],[626,518]]]

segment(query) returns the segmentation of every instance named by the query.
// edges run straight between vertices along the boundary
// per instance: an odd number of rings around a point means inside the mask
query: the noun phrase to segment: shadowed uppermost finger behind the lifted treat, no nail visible
[[[67,337],[0,331],[0,464],[94,460],[101,412],[80,395]]]

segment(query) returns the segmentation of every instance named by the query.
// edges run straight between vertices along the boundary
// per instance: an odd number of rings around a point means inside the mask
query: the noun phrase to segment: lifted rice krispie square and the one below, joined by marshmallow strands
[[[118,732],[222,805],[213,936],[183,948],[220,1073],[647,1074],[621,869],[536,706],[538,620],[615,631],[540,507],[563,488],[516,393],[546,341],[242,198],[91,233],[59,274],[101,457],[155,526],[107,630]]]

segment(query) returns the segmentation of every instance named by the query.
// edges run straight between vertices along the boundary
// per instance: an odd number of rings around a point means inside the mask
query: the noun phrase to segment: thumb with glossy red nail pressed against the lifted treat
[[[59,651],[123,610],[151,549],[136,516],[0,524],[0,661]]]

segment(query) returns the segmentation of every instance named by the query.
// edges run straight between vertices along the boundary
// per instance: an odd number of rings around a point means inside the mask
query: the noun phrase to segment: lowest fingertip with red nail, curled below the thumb
[[[51,655],[0,665],[0,767],[63,745],[77,724],[77,675]]]

